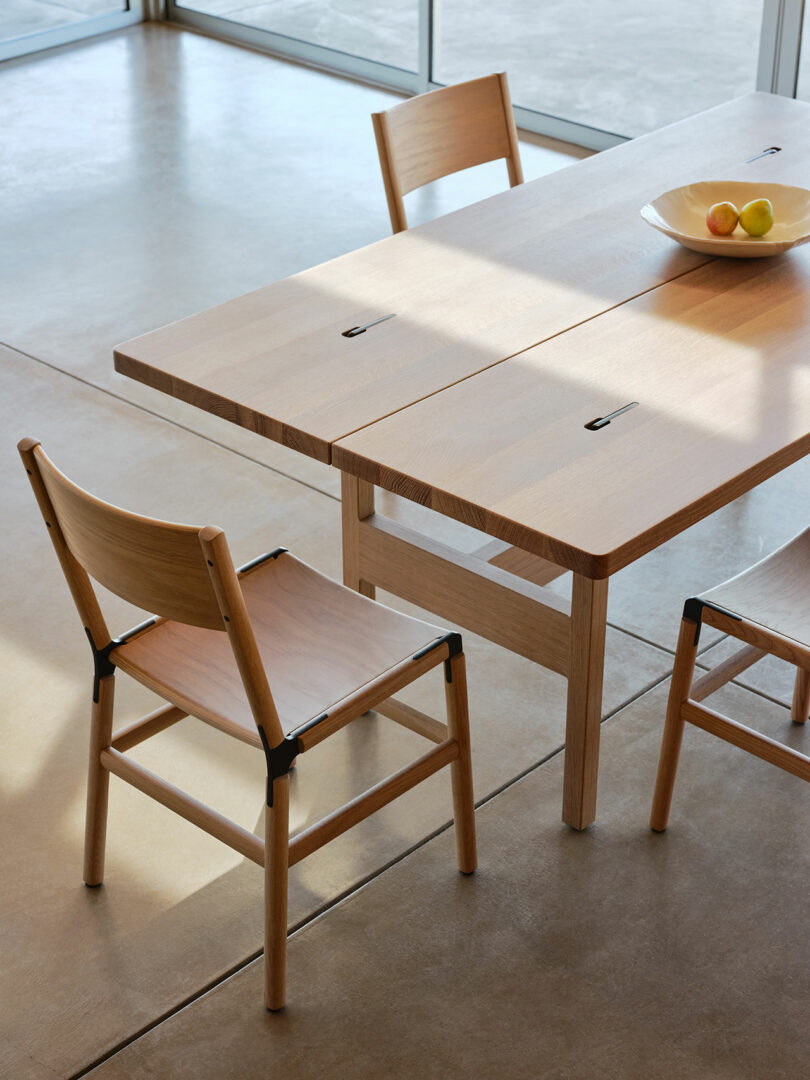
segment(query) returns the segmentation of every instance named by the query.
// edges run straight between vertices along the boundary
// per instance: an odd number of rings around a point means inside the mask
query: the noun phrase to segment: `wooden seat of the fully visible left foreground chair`
[[[288,552],[248,570],[240,584],[285,734],[445,634]],[[166,620],[110,657],[185,712],[260,745],[227,634]]]

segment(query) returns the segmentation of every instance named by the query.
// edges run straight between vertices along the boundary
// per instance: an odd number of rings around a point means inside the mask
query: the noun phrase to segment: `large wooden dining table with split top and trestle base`
[[[596,814],[610,576],[810,450],[810,246],[715,258],[639,208],[701,179],[804,186],[809,132],[810,105],[750,94],[116,349],[341,471],[351,588],[566,676],[575,828]],[[438,543],[376,487],[490,540]],[[570,600],[549,589],[566,570]]]

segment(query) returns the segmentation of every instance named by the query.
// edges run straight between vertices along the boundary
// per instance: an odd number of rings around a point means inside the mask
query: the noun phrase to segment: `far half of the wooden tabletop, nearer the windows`
[[[146,334],[116,367],[328,461],[335,440],[701,266],[639,207],[724,174],[802,183],[809,121],[747,95]]]

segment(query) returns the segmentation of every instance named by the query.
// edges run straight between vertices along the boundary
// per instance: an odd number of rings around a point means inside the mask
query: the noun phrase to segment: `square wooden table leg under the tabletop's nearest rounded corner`
[[[607,578],[573,575],[563,785],[563,821],[572,828],[596,816],[607,592]]]

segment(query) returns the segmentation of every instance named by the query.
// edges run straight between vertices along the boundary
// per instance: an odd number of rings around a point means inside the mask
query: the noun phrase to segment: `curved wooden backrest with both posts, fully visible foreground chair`
[[[17,448],[93,647],[111,638],[91,578],[161,618],[226,631],[257,725],[271,745],[283,738],[222,530],[121,510],[77,487],[37,440]]]

